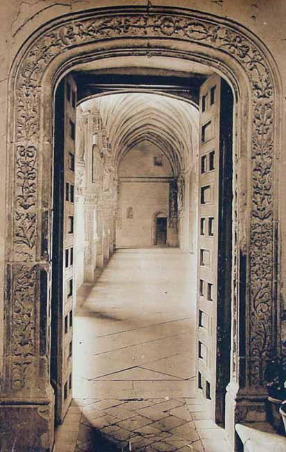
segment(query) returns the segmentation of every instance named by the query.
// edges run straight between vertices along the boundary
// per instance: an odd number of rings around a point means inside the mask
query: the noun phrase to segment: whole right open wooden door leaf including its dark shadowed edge
[[[217,75],[200,92],[196,383],[224,423],[230,370],[233,94]]]

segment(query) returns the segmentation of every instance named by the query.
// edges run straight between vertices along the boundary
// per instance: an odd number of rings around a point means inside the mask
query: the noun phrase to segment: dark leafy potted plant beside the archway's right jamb
[[[285,435],[283,418],[279,409],[283,401],[286,401],[286,356],[275,356],[267,362],[265,380],[268,393],[267,418],[278,433]]]

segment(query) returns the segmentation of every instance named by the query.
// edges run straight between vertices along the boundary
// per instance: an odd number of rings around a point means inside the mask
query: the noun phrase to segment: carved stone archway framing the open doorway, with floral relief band
[[[101,8],[42,26],[19,51],[10,76],[0,408],[1,425],[8,433],[3,451],[11,449],[9,442],[15,428],[19,434],[26,410],[31,420],[25,424],[27,450],[47,451],[53,437],[49,385],[53,92],[77,62],[121,55],[196,60],[211,65],[233,87],[237,138],[233,349],[226,406],[230,433],[234,422],[248,419],[251,410],[264,410],[265,360],[279,347],[280,338],[274,245],[280,85],[274,61],[255,36],[226,19],[179,8]]]

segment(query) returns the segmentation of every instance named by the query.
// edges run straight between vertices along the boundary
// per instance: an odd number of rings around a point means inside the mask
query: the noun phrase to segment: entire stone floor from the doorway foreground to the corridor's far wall
[[[117,250],[81,288],[74,400],[56,452],[229,452],[194,388],[194,257]]]

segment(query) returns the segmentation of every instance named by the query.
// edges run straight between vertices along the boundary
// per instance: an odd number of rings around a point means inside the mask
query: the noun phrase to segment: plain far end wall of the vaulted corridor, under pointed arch
[[[173,178],[173,171],[168,158],[150,141],[142,141],[124,157],[118,174],[116,245],[153,246],[156,214],[164,212],[169,218],[168,179]]]

